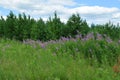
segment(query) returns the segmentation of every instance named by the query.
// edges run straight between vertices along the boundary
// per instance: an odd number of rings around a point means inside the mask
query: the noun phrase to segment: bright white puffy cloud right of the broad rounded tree
[[[101,6],[80,6],[72,9],[71,12],[78,12],[83,18],[85,18],[88,23],[102,24],[108,21],[117,23],[117,20],[113,20],[113,17],[119,18],[120,9],[119,8],[108,8]],[[116,15],[117,14],[117,15]]]

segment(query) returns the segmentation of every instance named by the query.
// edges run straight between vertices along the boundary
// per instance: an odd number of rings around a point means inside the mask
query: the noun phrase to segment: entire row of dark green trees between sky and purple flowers
[[[0,18],[0,37],[20,41],[25,39],[56,40],[61,37],[75,37],[77,34],[85,36],[89,32],[107,34],[113,39],[120,38],[119,25],[109,22],[104,25],[89,26],[79,14],[72,14],[66,23],[61,22],[56,12],[54,12],[54,17],[49,17],[47,21],[43,21],[42,18],[35,20],[25,13],[16,16],[12,11],[6,19],[3,16]]]

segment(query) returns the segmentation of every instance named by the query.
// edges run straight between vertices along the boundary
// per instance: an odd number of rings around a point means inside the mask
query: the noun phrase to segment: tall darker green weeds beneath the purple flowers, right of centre
[[[85,42],[77,40],[58,44],[57,47],[53,46],[53,51],[58,56],[71,55],[74,59],[84,56],[85,59],[89,60],[90,64],[97,62],[100,65],[113,65],[120,55],[119,48],[116,43],[108,43],[105,40],[88,40]]]

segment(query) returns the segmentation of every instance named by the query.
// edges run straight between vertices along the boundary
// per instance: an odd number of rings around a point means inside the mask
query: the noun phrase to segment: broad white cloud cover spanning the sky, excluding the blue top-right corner
[[[120,9],[116,7],[86,6],[74,0],[1,0],[0,5],[6,9],[25,12],[31,16],[47,20],[57,11],[62,21],[67,21],[73,13],[79,13],[88,23],[105,23],[109,20],[117,22]]]

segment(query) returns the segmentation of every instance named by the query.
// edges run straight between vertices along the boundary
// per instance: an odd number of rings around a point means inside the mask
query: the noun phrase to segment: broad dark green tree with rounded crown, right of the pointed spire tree
[[[67,35],[74,36],[80,32],[81,34],[87,34],[89,27],[86,21],[83,21],[79,14],[73,14],[67,21]]]

